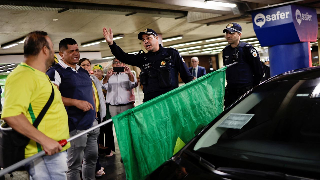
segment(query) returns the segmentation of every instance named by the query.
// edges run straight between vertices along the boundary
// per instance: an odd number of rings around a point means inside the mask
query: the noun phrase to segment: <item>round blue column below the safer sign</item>
[[[269,46],[271,77],[310,66],[309,42]]]

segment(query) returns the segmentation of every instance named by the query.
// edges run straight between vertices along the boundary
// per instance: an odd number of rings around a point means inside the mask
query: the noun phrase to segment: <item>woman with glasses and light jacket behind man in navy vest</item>
[[[87,70],[90,74],[91,70],[91,62],[89,59],[82,58],[79,60],[78,65],[82,67],[83,69]],[[92,74],[90,74],[91,80],[92,80],[92,90],[94,92],[94,103],[96,107],[96,119],[99,123],[101,123],[101,119],[106,116],[106,101],[104,99],[104,95],[102,93],[102,84],[99,81],[99,79]],[[98,137],[98,148],[99,148],[99,137]],[[99,157],[96,164],[96,176],[102,176],[105,175],[104,168],[101,167],[99,163]]]

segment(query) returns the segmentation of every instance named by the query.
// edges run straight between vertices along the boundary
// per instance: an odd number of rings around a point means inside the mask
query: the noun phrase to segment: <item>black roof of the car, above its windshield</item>
[[[320,66],[315,66],[315,67],[308,67],[308,68],[302,68],[298,70],[285,72],[268,79],[266,82],[319,79],[319,78],[320,78]]]

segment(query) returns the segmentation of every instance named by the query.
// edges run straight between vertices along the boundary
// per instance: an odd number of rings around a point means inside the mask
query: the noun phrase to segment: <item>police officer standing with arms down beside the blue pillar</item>
[[[222,50],[223,65],[238,62],[226,70],[225,107],[257,86],[263,76],[259,53],[251,44],[240,41],[241,31],[241,26],[234,22],[223,29],[229,44]]]

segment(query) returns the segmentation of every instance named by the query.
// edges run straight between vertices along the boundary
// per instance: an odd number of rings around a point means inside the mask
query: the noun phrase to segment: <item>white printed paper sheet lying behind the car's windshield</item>
[[[254,114],[233,114],[231,113],[224,121],[222,121],[218,127],[227,127],[233,129],[241,129]]]

